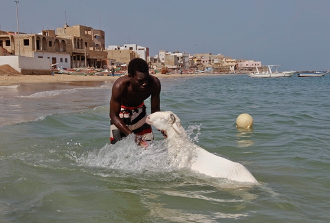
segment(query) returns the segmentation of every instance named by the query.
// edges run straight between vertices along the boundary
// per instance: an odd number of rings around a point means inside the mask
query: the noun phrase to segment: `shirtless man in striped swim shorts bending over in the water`
[[[151,113],[160,111],[160,81],[151,76],[148,64],[140,58],[129,62],[128,75],[118,78],[110,99],[110,141],[115,144],[129,134],[135,134],[138,145],[152,140],[151,125],[146,123],[144,100],[151,96]],[[163,133],[163,132],[162,132]]]

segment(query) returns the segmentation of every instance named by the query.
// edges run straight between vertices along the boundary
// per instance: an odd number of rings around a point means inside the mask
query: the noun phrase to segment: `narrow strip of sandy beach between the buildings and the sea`
[[[187,78],[197,76],[226,76],[236,74],[151,74],[157,78]],[[114,82],[120,76],[83,76],[83,75],[68,75],[68,74],[54,74],[54,75],[0,75],[0,85],[20,85],[23,83],[69,83],[69,82],[86,82],[86,81],[101,81]]]

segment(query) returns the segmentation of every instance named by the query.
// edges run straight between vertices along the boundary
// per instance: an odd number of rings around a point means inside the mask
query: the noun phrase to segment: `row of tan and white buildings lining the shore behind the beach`
[[[0,30],[0,65],[19,56],[22,74],[41,74],[52,68],[110,67],[126,69],[131,59],[140,57],[153,70],[180,72],[199,70],[205,72],[241,73],[252,72],[261,67],[260,61],[238,60],[222,54],[193,54],[159,50],[155,56],[149,55],[149,48],[137,44],[105,45],[103,30],[85,25],[64,25],[56,30],[42,30],[38,34],[25,34]],[[27,61],[21,57],[26,57]],[[28,59],[29,58],[29,59]],[[30,59],[34,59],[31,61]],[[36,61],[39,62],[37,63]],[[47,65],[40,65],[41,63]],[[47,68],[48,66],[48,68]]]

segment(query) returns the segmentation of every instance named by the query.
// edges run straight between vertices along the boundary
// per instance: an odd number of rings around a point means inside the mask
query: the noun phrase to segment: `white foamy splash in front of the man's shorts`
[[[167,149],[162,141],[148,143],[146,149],[134,142],[134,136],[129,135],[115,145],[104,145],[83,153],[77,162],[89,167],[104,167],[120,169],[127,172],[166,172],[172,171],[168,164]]]

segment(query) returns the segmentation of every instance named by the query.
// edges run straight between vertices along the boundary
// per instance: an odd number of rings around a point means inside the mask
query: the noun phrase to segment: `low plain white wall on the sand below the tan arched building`
[[[25,56],[0,56],[0,65],[8,64],[21,74],[51,74],[49,59]]]

